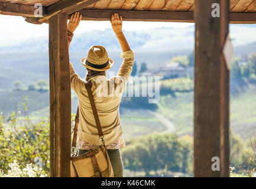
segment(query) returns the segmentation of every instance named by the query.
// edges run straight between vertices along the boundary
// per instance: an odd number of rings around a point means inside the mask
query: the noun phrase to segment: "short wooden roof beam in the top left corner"
[[[8,2],[0,2],[0,14],[34,17],[34,12],[37,8],[31,5],[10,4]],[[46,14],[46,8],[43,6],[43,15]]]

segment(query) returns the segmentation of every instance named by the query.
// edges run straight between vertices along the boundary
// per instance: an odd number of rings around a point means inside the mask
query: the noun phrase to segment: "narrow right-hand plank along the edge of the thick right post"
[[[221,0],[221,50],[226,42],[226,37],[229,34],[229,1]],[[221,160],[221,177],[229,177],[229,70],[226,65],[225,58],[222,53],[220,53],[220,160]]]

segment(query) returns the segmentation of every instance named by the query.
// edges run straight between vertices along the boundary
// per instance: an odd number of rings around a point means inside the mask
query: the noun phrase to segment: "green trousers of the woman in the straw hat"
[[[108,156],[113,168],[114,177],[123,177],[122,158],[119,149],[107,149],[106,151],[108,151]],[[87,152],[86,149],[79,149],[78,155],[81,155],[85,152]]]

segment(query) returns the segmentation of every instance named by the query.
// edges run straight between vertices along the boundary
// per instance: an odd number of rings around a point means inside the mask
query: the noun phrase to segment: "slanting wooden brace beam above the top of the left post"
[[[59,14],[60,12],[65,14],[72,14],[73,12],[79,11],[80,9],[85,8],[86,6],[95,4],[95,2],[98,2],[101,0],[62,0],[56,2],[56,4],[53,4],[51,6],[47,7],[47,13],[48,15],[46,17],[43,17],[41,19],[38,19],[39,22],[45,22],[51,17],[53,17],[56,14]]]

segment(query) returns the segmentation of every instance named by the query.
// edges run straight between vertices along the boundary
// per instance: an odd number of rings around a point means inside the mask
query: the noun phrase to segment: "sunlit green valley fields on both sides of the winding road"
[[[254,136],[256,133],[256,85],[248,84],[243,92],[231,94],[231,129],[242,139]],[[11,111],[21,111],[24,115],[22,96],[27,96],[28,114],[31,119],[46,116],[49,111],[49,93],[39,91],[0,92],[0,112],[8,116]],[[72,93],[72,112],[76,112],[77,97]],[[169,120],[178,135],[193,135],[193,92],[176,92],[173,95],[161,95],[157,109],[149,110],[144,107],[131,109],[121,108],[121,122],[126,139],[153,132],[164,132],[166,123],[157,118],[155,113]]]

